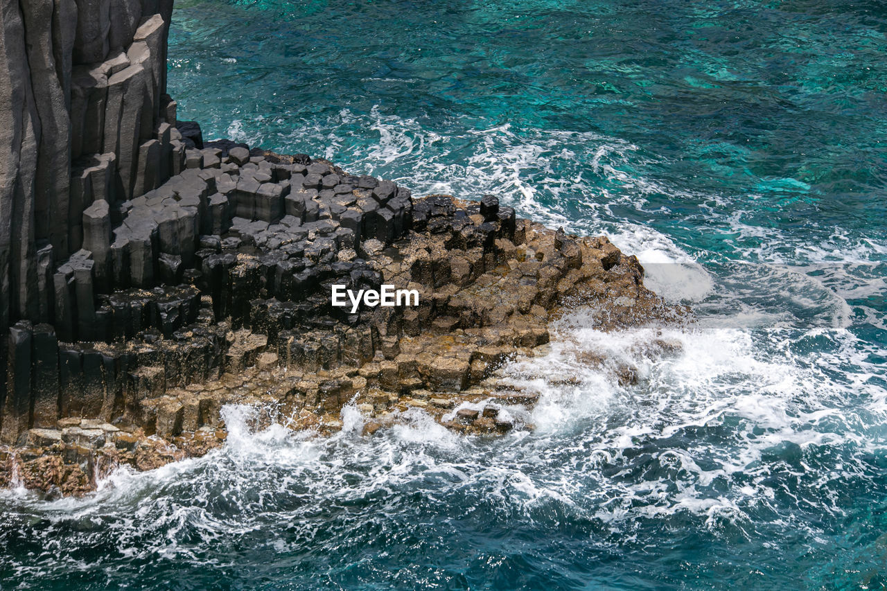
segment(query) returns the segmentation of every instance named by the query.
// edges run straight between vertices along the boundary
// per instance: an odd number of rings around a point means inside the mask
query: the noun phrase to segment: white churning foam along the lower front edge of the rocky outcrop
[[[200,532],[205,540],[247,532],[255,527],[250,515],[278,510],[276,499],[295,491],[307,495],[310,507],[418,486],[443,497],[476,491],[509,512],[557,502],[589,511],[619,531],[638,519],[676,513],[698,515],[714,532],[725,524],[742,527],[754,506],[779,510],[771,483],[781,461],[803,462],[805,450],[815,446],[858,445],[870,453],[883,445],[844,429],[847,417],[833,403],[859,384],[829,381],[790,353],[762,353],[766,337],[758,320],[753,315],[726,323],[712,318],[682,330],[650,327],[616,334],[596,331],[581,312],[561,322],[546,356],[517,360],[506,370],[516,384],[540,391],[542,398],[530,415],[536,431],[493,444],[495,461],[488,458],[489,442],[443,429],[419,409],[404,414],[394,429],[365,437],[360,435],[364,417],[349,405],[342,411],[340,434],[315,437],[295,435],[278,422],[259,429],[264,409],[226,406],[230,435],[221,450],[145,474],[121,471],[92,499],[54,501],[39,510],[59,519],[84,519],[137,503],[138,519],[160,519],[158,526],[168,532],[153,548],[169,558],[187,552],[172,542],[184,529]],[[845,338],[844,328],[822,330],[829,338]],[[678,340],[683,350],[648,358],[643,351],[653,338]],[[583,366],[571,353],[577,346],[639,367],[640,384],[620,386],[612,374]],[[565,374],[576,379],[558,382]],[[883,398],[872,398],[868,408],[883,422]],[[729,445],[704,435],[718,430],[725,431]],[[687,443],[672,443],[680,440]],[[847,457],[820,478],[858,473],[855,463]],[[613,472],[614,466],[622,468]],[[726,493],[713,495],[718,482],[726,483]],[[191,500],[179,498],[183,487],[192,491]],[[213,495],[246,515],[215,516],[208,508],[216,502]],[[825,505],[822,510],[839,509]],[[122,527],[137,537],[145,525]],[[145,551],[134,543],[128,548]]]

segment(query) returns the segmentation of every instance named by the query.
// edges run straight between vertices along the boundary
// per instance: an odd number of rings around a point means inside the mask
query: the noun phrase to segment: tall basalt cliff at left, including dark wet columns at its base
[[[57,418],[45,416],[60,404],[55,343],[75,340],[90,318],[76,305],[108,286],[119,204],[184,162],[166,94],[171,14],[172,0],[0,0],[5,442]]]

